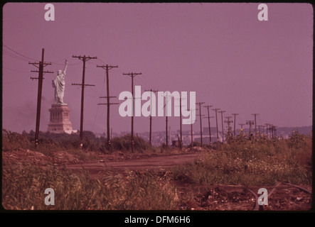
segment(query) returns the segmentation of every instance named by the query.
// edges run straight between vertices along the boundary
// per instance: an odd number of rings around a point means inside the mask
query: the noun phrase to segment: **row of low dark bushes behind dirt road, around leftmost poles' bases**
[[[46,155],[51,155],[53,152],[58,150],[84,150],[84,151],[95,151],[98,153],[112,153],[115,151],[119,152],[130,152],[131,147],[131,136],[123,135],[122,137],[112,138],[111,149],[107,147],[107,139],[104,137],[96,137],[91,131],[83,131],[83,143],[82,149],[80,148],[80,136],[78,133],[50,133],[50,132],[39,132],[38,136],[38,151]],[[28,149],[34,150],[35,144],[35,132],[30,131],[26,133],[23,131],[22,134],[6,131],[2,129],[2,150],[18,150]],[[156,152],[157,148],[151,146],[146,140],[139,136],[134,137],[134,150],[135,153],[152,153]]]

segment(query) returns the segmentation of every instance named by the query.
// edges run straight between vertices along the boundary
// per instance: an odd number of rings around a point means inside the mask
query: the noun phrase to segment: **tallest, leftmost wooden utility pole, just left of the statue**
[[[43,71],[43,68],[47,65],[51,65],[50,62],[44,62],[44,52],[43,48],[41,51],[41,62],[28,62],[28,64],[37,67],[38,70],[31,70],[31,72],[38,72],[38,77],[31,77],[31,79],[38,79],[38,92],[37,92],[37,111],[36,111],[36,130],[35,130],[35,148],[38,146],[38,135],[39,135],[39,124],[41,120],[41,93],[43,89],[43,74],[44,73],[53,73],[50,71]]]

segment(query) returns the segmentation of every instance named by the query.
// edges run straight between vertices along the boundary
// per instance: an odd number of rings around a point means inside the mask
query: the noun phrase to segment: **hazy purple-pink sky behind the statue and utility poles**
[[[35,130],[38,81],[28,62],[52,62],[45,70],[41,131],[46,131],[53,103],[51,80],[68,70],[65,103],[73,129],[80,128],[82,61],[90,55],[85,82],[84,130],[106,128],[105,70],[110,71],[110,94],[131,90],[130,77],[142,72],[134,85],[159,91],[196,92],[196,101],[237,113],[237,123],[253,120],[275,126],[311,126],[313,84],[313,9],[311,4],[267,4],[268,21],[259,21],[259,4],[66,4],[55,3],[55,21],[46,21],[42,3],[10,3],[3,8],[3,128]],[[18,52],[13,52],[12,50]],[[114,102],[122,103],[117,99]],[[144,101],[142,101],[144,103]],[[119,105],[111,107],[114,132],[130,131]],[[205,108],[203,108],[203,114]],[[214,116],[211,111],[211,116]],[[170,117],[171,130],[179,128]],[[219,118],[220,120],[220,118]],[[203,119],[203,126],[207,121]],[[215,126],[214,118],[211,126]],[[197,121],[194,126],[199,128]],[[165,130],[165,117],[155,117],[154,131]],[[238,126],[240,128],[240,126]],[[189,130],[190,126],[183,126]],[[135,117],[135,132],[149,131],[149,118]]]

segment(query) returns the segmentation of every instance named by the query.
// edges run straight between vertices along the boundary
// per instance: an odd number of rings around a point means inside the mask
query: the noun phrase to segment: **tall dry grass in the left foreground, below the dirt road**
[[[91,179],[87,172],[10,163],[3,168],[2,206],[8,210],[173,210],[175,187],[153,172],[106,172]],[[55,192],[55,205],[46,205],[45,190]]]

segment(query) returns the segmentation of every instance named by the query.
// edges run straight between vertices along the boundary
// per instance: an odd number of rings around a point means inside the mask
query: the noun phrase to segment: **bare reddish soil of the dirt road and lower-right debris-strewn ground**
[[[198,159],[201,150],[191,152],[184,150],[176,154],[126,154],[116,153],[104,155],[92,153],[92,160],[82,160],[78,155],[59,151],[53,155],[44,155],[32,150],[14,150],[2,152],[2,165],[12,162],[28,162],[33,165],[47,166],[53,163],[55,166],[66,167],[68,170],[87,170],[92,178],[102,177],[105,171],[120,172],[122,174],[130,170],[146,171],[156,170],[160,175],[171,174],[169,167],[184,165]],[[174,179],[173,183],[178,189],[181,199],[179,210],[196,211],[252,211],[255,209],[257,196],[252,192],[260,188],[266,188],[271,192],[274,187],[243,187],[241,185],[198,185],[187,182],[186,179]],[[311,192],[311,186],[301,185]],[[250,192],[250,190],[252,192]],[[296,187],[279,184],[277,189],[268,198],[267,206],[259,206],[264,211],[309,211],[312,207],[311,194]]]

